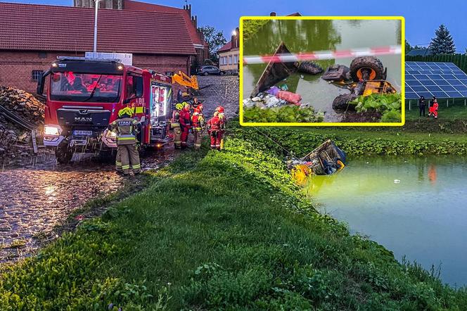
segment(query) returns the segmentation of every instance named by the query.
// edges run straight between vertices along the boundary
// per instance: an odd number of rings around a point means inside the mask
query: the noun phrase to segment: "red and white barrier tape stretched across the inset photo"
[[[349,49],[341,51],[316,51],[309,53],[286,53],[267,56],[245,56],[243,65],[263,64],[263,63],[290,63],[296,61],[324,61],[338,58],[355,58],[359,56],[378,56],[402,53],[399,45],[381,46],[374,48]]]

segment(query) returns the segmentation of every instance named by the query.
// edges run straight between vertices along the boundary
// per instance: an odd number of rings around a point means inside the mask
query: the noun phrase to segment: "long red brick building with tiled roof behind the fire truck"
[[[92,0],[76,0],[75,7],[0,3],[0,85],[35,92],[37,78],[57,56],[92,51],[94,9],[77,7],[84,2],[94,4]],[[127,8],[119,9],[120,4]],[[123,0],[101,1],[102,5],[115,9],[98,12],[98,51],[132,53],[133,65],[162,73],[189,72],[197,55],[203,56],[196,44],[207,45],[196,30],[191,7]]]

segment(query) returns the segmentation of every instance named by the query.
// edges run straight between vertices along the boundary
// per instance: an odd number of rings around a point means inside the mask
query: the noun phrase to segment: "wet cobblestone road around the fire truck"
[[[227,118],[236,116],[238,77],[208,76],[198,81],[206,118],[219,105]],[[173,146],[146,153],[141,158],[143,170],[158,170],[178,154]],[[137,179],[125,179],[113,163],[99,163],[89,154],[75,154],[70,165],[57,165],[53,153],[42,148],[38,156],[18,159],[15,167],[0,166],[0,262],[31,255],[44,236],[53,236],[54,228],[84,203],[115,193],[132,180]]]

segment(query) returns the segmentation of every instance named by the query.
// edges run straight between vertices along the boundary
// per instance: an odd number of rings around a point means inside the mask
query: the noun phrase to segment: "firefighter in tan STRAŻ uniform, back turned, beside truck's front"
[[[129,174],[130,165],[134,174],[141,172],[139,153],[136,148],[136,134],[141,130],[141,124],[134,120],[132,115],[132,108],[122,108],[118,112],[118,119],[108,125],[110,131],[117,132],[117,162],[120,158],[125,175]]]

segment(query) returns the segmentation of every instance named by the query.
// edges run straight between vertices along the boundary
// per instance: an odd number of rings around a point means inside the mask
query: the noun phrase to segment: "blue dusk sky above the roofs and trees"
[[[153,4],[182,7],[184,0],[141,0]],[[9,0],[30,4],[72,5],[72,0]],[[406,38],[411,45],[430,43],[437,27],[444,23],[454,37],[457,51],[467,47],[467,6],[465,0],[392,0],[392,1],[317,1],[317,0],[268,0],[268,1],[212,1],[191,0],[193,14],[198,24],[212,25],[224,32],[229,39],[241,15],[277,15],[300,12],[302,15],[402,15],[406,19]]]

